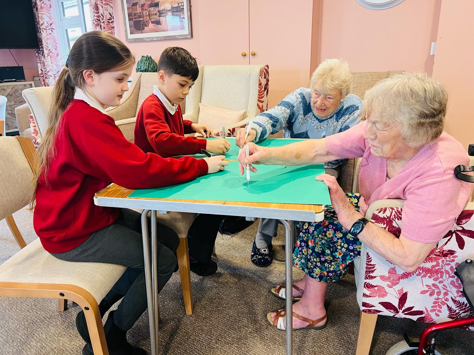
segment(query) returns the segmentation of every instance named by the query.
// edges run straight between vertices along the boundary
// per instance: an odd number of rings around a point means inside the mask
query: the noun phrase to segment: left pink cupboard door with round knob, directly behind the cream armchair
[[[198,6],[201,64],[249,64],[248,0],[199,0]]]

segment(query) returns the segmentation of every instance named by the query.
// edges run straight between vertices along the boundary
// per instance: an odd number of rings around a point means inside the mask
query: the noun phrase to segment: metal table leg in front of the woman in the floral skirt
[[[292,332],[293,332],[293,234],[294,223],[292,221],[280,220],[285,226],[285,277],[286,277],[286,354],[292,354]]]

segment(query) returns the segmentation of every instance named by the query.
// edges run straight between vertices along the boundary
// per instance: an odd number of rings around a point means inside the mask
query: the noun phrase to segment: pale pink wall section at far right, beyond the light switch
[[[474,143],[473,13],[472,0],[457,0],[456,5],[450,1],[443,1],[433,68],[433,77],[443,82],[449,89],[446,131],[463,143],[466,150],[468,144]]]

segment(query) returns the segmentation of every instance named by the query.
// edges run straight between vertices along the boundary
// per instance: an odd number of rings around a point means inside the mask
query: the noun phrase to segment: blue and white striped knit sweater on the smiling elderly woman
[[[278,105],[254,118],[252,128],[257,133],[254,142],[261,142],[269,134],[282,129],[283,138],[324,138],[358,124],[361,115],[361,99],[349,94],[331,115],[319,118],[311,107],[311,89],[296,89]],[[324,166],[335,168],[343,161],[344,159],[329,161]]]

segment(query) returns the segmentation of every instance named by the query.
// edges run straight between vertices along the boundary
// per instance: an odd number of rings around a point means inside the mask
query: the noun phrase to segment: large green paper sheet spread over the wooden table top
[[[231,139],[229,139],[231,140]],[[233,139],[235,141],[235,139]],[[283,146],[295,140],[268,139],[263,144]],[[298,140],[301,141],[301,140]],[[236,147],[232,142],[232,147]],[[237,149],[228,154],[236,154]],[[199,158],[199,155],[194,155]],[[232,156],[234,158],[234,156]],[[228,157],[228,159],[232,159]],[[225,170],[208,174],[182,184],[139,189],[129,197],[173,198],[282,204],[331,204],[328,187],[315,177],[324,173],[323,164],[282,168],[280,165],[256,165],[257,173],[240,175],[238,161],[229,161]]]

